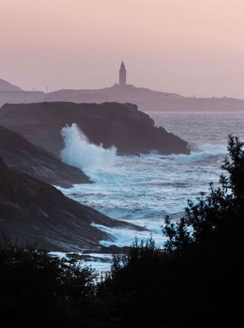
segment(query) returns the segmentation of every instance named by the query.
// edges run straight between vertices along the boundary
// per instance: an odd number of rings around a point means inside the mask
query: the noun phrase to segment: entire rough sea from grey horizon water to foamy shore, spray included
[[[116,149],[89,143],[75,124],[62,130],[63,161],[81,168],[94,184],[60,189],[72,199],[91,206],[115,220],[146,227],[158,246],[166,238],[161,225],[168,214],[176,220],[184,214],[187,199],[208,192],[217,183],[220,166],[227,154],[228,134],[244,140],[244,112],[148,112],[155,126],[162,126],[188,141],[191,155],[151,154],[140,157],[116,156]],[[117,238],[117,246],[130,245],[135,235],[146,239],[149,232],[99,227]],[[110,242],[101,241],[109,246]],[[97,256],[97,255],[94,255]],[[100,259],[99,259],[100,258]],[[107,271],[110,256],[99,255],[90,262],[97,272]],[[89,264],[90,264],[89,263]]]

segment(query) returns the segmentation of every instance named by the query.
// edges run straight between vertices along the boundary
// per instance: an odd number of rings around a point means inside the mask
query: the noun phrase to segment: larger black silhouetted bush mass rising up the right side
[[[135,241],[124,263],[114,258],[101,286],[113,295],[120,326],[212,326],[234,321],[243,307],[244,151],[229,136],[220,186],[189,201],[186,215],[166,217],[163,251]],[[124,315],[123,315],[124,314]],[[130,315],[130,317],[129,317]],[[130,319],[129,319],[130,318]],[[119,326],[119,327],[120,327]]]

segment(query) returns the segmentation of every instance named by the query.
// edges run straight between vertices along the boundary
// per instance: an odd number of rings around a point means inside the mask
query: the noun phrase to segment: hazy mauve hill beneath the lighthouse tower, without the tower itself
[[[132,85],[98,90],[58,90],[46,94],[45,101],[74,103],[132,103],[141,111],[243,111],[244,100],[234,98],[193,98],[177,93],[136,88]]]

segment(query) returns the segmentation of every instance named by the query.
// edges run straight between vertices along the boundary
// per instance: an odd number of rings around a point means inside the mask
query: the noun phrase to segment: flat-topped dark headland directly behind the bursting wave
[[[149,115],[127,103],[5,104],[0,110],[0,123],[56,155],[64,146],[60,130],[72,123],[92,143],[103,143],[105,148],[115,145],[120,155],[148,154],[151,150],[164,155],[190,154],[186,141],[154,127]]]

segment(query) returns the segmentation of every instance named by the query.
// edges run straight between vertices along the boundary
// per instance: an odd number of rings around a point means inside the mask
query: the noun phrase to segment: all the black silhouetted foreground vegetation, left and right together
[[[176,224],[166,218],[165,249],[150,238],[114,256],[94,283],[78,259],[37,245],[0,245],[2,327],[235,326],[243,310],[244,151],[229,137],[220,185],[189,202]],[[241,319],[242,321],[242,319]]]

